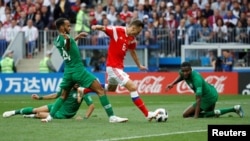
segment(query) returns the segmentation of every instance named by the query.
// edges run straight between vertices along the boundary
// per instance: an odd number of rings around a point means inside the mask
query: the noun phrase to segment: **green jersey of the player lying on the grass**
[[[60,96],[60,92],[58,92],[57,95]],[[58,112],[60,112],[62,115],[65,115],[67,117],[73,117],[77,113],[78,109],[80,108],[83,100],[86,102],[88,106],[93,103],[92,98],[89,94],[84,95],[81,102],[78,103],[77,91],[71,90],[69,93],[69,96],[63,103],[62,107],[58,110]]]

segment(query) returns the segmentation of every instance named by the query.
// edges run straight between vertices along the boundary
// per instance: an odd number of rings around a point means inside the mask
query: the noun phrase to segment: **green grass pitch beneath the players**
[[[250,97],[226,96],[219,98],[216,108],[241,104],[245,117],[229,113],[220,118],[183,119],[183,110],[194,101],[194,95],[141,95],[150,110],[166,108],[169,119],[166,123],[148,122],[133,105],[128,95],[109,95],[116,115],[128,117],[127,123],[109,123],[108,117],[93,95],[95,111],[87,120],[54,119],[41,123],[39,119],[25,119],[21,115],[0,118],[1,141],[206,141],[209,124],[249,124]],[[51,100],[31,100],[29,95],[1,95],[0,112],[22,107],[38,107],[53,102]],[[86,104],[81,105],[76,116],[83,116]]]

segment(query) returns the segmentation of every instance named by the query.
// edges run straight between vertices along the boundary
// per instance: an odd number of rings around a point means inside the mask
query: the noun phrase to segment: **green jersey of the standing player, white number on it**
[[[56,38],[54,45],[59,50],[63,60],[64,60],[64,72],[75,72],[76,69],[83,70],[83,63],[82,58],[80,55],[79,48],[77,46],[77,43],[74,38],[72,38],[70,35],[70,49],[66,50],[66,39],[63,37],[63,35],[58,35]]]

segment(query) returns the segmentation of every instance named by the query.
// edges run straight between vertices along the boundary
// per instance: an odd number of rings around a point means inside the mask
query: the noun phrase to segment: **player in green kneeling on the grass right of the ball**
[[[217,90],[213,85],[207,83],[197,71],[192,70],[191,64],[188,62],[181,64],[179,76],[169,84],[166,89],[169,90],[173,88],[175,84],[182,80],[187,83],[196,96],[196,101],[184,111],[184,118],[219,117],[229,112],[235,112],[240,117],[244,116],[241,105],[215,110],[215,105],[218,100]]]

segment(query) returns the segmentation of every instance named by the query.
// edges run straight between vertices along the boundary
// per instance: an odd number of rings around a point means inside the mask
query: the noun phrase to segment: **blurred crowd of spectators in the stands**
[[[138,44],[157,44],[159,57],[181,56],[181,45],[197,42],[250,44],[249,0],[0,0],[1,54],[23,31],[32,58],[43,48],[43,31],[53,39],[59,17],[70,19],[73,32],[89,33],[79,46],[108,45],[91,25],[126,26],[134,19],[145,23]]]

